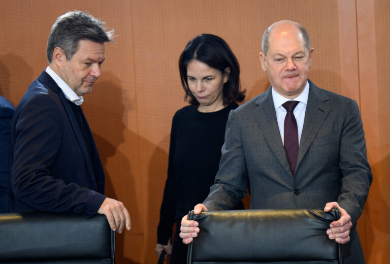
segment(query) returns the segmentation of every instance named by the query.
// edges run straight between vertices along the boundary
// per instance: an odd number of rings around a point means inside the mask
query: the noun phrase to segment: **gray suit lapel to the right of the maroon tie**
[[[329,101],[328,96],[322,93],[321,89],[319,89],[310,80],[308,81],[310,90],[305,112],[305,121],[303,123],[301,142],[299,145],[297,169],[317,135],[323,121],[327,118],[329,112],[331,111],[331,107],[327,103],[327,101]]]

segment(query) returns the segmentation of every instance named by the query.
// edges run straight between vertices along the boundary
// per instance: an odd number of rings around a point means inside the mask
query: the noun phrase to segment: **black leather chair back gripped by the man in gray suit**
[[[342,263],[342,245],[326,234],[340,211],[212,211],[188,219],[200,233],[188,247],[187,263]]]

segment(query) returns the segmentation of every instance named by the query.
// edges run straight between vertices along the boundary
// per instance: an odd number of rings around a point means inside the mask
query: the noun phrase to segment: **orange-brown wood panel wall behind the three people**
[[[269,86],[258,52],[265,28],[304,25],[314,47],[309,78],[360,105],[374,174],[359,233],[368,263],[390,259],[390,3],[388,0],[1,0],[0,94],[15,106],[46,68],[56,17],[88,11],[116,30],[102,78],[83,110],[106,172],[106,193],[123,201],[132,230],[117,236],[117,263],[155,263],[156,226],[166,180],[171,120],[186,105],[177,61],[201,33],[229,43],[246,101]]]

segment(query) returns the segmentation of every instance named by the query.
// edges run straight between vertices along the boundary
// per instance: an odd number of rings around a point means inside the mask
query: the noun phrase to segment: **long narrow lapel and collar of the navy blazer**
[[[72,107],[69,105],[69,100],[63,94],[61,88],[59,88],[59,86],[55,83],[55,81],[45,71],[40,75],[39,81],[41,81],[42,83],[44,83],[45,85],[50,87],[54,92],[56,92],[58,94],[59,99],[62,103],[62,106],[64,107],[65,111],[67,112],[67,115],[68,115],[69,120],[71,122],[71,125],[73,127],[73,131],[76,135],[76,140],[79,143],[81,152],[83,153],[88,173],[89,173],[90,177],[92,177],[93,182],[96,183],[96,179],[95,179],[95,176],[93,173],[92,161],[91,161],[92,157],[89,157],[88,150],[87,150],[87,147],[85,145],[83,135],[81,134],[79,124],[77,123],[77,120],[76,120],[75,114],[73,113]]]

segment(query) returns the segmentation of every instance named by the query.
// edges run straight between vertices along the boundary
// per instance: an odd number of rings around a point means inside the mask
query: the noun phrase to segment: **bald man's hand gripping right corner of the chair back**
[[[329,239],[335,239],[337,243],[345,244],[350,240],[349,234],[351,233],[352,228],[351,217],[349,216],[347,211],[342,209],[336,202],[327,203],[323,211],[329,212],[336,207],[340,209],[341,217],[339,220],[333,221],[330,224],[331,228],[327,230],[327,234],[329,236]]]

